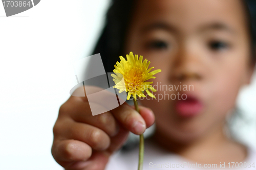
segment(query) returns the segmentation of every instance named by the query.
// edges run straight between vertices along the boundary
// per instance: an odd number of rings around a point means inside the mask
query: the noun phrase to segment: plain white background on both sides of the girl
[[[108,5],[108,0],[42,0],[5,17],[0,4],[1,170],[62,169],[51,155],[52,128],[76,84],[71,63],[91,55]],[[237,128],[254,147],[255,103],[254,78],[238,99],[250,121]]]

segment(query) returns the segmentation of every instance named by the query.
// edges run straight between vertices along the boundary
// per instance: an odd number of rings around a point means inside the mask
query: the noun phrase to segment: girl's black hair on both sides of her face
[[[243,0],[248,11],[252,64],[256,61],[256,0]],[[124,39],[132,18],[135,0],[112,0],[106,22],[93,54],[100,53],[106,72],[113,72],[119,56],[124,53]]]

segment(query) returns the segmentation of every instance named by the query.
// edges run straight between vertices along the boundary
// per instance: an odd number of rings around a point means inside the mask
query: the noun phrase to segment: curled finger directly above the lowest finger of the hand
[[[105,150],[110,145],[108,134],[91,125],[73,122],[71,126],[64,128],[61,136],[85,142],[94,150]]]

